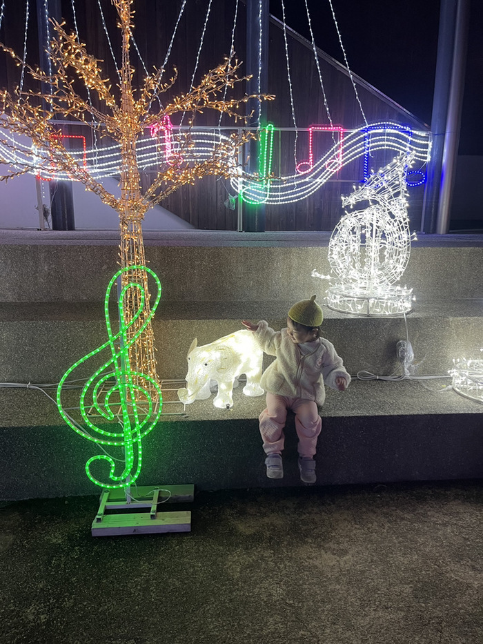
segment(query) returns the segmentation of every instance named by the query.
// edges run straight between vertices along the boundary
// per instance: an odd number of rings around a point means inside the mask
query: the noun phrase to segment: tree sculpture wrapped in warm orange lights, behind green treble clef
[[[120,264],[121,268],[146,266],[141,222],[148,208],[159,204],[170,193],[184,184],[194,184],[196,179],[206,175],[230,177],[238,166],[238,150],[252,135],[242,131],[230,137],[212,139],[205,148],[201,159],[190,155],[193,139],[188,132],[179,135],[177,140],[176,162],[166,157],[166,162],[158,166],[157,176],[147,191],[141,193],[137,143],[146,128],[155,128],[166,122],[175,113],[189,113],[190,126],[197,113],[209,108],[246,123],[248,116],[239,113],[248,99],[226,99],[226,90],[246,81],[237,72],[240,63],[233,56],[225,59],[217,68],[210,70],[199,83],[186,94],[175,97],[166,106],[156,106],[161,92],[166,92],[176,80],[163,81],[164,68],[155,69],[148,75],[139,89],[133,88],[133,69],[130,66],[130,43],[132,41],[132,0],[112,0],[119,16],[122,35],[122,65],[119,70],[119,86],[112,89],[110,79],[103,75],[100,63],[88,54],[77,36],[68,33],[63,23],[52,21],[55,38],[50,43],[52,74],[26,66],[14,51],[0,45],[19,66],[23,66],[30,77],[43,88],[33,90],[0,92],[0,127],[10,134],[25,135],[32,144],[29,147],[15,143],[8,135],[0,137],[0,147],[14,155],[14,170],[1,177],[8,179],[23,173],[37,173],[51,176],[55,171],[59,176],[82,182],[86,189],[97,194],[101,201],[119,214],[121,228]],[[86,97],[77,90],[79,81],[86,88]],[[48,88],[49,90],[45,90]],[[87,91],[88,90],[88,91]],[[98,106],[94,106],[93,97]],[[268,96],[259,96],[271,99]],[[55,119],[75,119],[87,123],[99,137],[109,137],[120,153],[121,197],[112,195],[97,180],[95,168],[87,166],[78,156],[68,150],[59,124]],[[8,157],[8,158],[7,158]],[[0,163],[12,164],[12,157],[0,155]],[[20,168],[20,169],[19,169]],[[137,283],[144,292],[144,311],[139,314],[139,289],[130,289],[131,302],[124,307],[124,326],[128,329],[130,366],[135,373],[146,373],[157,382],[155,347],[150,323],[150,297],[146,272],[132,268],[121,274],[122,286]],[[134,320],[135,318],[135,320]],[[141,327],[143,333],[138,334]],[[135,337],[135,342],[130,340]],[[144,383],[146,384],[146,383]],[[153,395],[156,391],[153,390]]]

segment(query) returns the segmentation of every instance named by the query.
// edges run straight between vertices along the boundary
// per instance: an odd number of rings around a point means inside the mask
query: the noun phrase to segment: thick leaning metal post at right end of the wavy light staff
[[[425,233],[435,233],[438,226],[440,195],[443,190],[446,176],[452,186],[455,166],[456,148],[454,135],[459,137],[460,112],[463,92],[462,79],[455,78],[455,73],[460,77],[464,75],[464,59],[466,57],[466,32],[469,0],[441,0],[440,30],[437,41],[437,61],[435,73],[435,88],[433,93],[433,113],[431,115],[431,132],[433,133],[433,146],[431,160],[428,163],[428,180],[424,193],[423,215],[421,229]],[[460,70],[457,72],[457,70]],[[451,108],[451,119],[449,119]],[[460,108],[457,109],[457,105]],[[446,134],[451,130],[452,143],[446,143]],[[446,148],[445,166],[443,156]],[[451,154],[450,154],[451,150]],[[448,198],[451,190],[446,193],[446,208],[449,206]],[[446,228],[447,231],[447,228]]]

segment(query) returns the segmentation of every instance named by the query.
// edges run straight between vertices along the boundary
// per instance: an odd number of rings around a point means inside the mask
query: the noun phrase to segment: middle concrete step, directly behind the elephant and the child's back
[[[161,302],[153,322],[161,378],[184,378],[193,338],[208,344],[242,329],[241,320],[286,326],[293,302]],[[324,336],[351,374],[391,375],[400,368],[396,344],[406,339],[404,318],[366,318],[324,308]],[[112,320],[117,312],[113,309]],[[406,315],[408,338],[422,375],[447,372],[454,358],[479,357],[483,300],[418,300]],[[101,302],[0,304],[0,381],[58,382],[74,362],[107,340]],[[265,357],[265,364],[271,361]],[[79,377],[93,373],[86,364]]]

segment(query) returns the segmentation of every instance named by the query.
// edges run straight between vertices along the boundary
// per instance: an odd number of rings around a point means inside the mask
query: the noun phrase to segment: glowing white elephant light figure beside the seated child
[[[246,396],[262,396],[263,352],[251,331],[235,331],[223,338],[197,346],[197,338],[188,351],[188,374],[186,387],[178,389],[178,398],[184,404],[210,398],[210,380],[218,383],[218,393],[213,400],[215,407],[233,407],[233,384],[244,373]]]

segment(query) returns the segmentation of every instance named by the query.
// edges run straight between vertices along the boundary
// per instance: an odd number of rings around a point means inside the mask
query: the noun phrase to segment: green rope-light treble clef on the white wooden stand
[[[126,273],[128,271],[135,271],[135,270],[146,271],[146,273],[151,275],[151,277],[155,280],[157,285],[157,295],[156,295],[155,302],[152,304],[149,315],[146,317],[143,324],[139,327],[137,333],[135,333],[135,335],[133,335],[132,338],[128,340],[127,331],[129,327],[135,324],[136,320],[138,320],[139,316],[141,315],[144,309],[144,304],[145,304],[144,289],[141,286],[141,284],[137,284],[137,282],[129,282],[121,289],[121,293],[119,293],[119,302],[118,302],[118,309],[119,309],[118,333],[112,332],[112,326],[109,318],[109,300],[110,300],[111,291],[115,286],[118,277],[122,273]],[[135,312],[135,315],[132,317],[132,320],[130,320],[129,324],[126,325],[124,324],[123,307],[124,307],[124,297],[129,289],[137,289],[139,291],[139,308]],[[157,421],[159,420],[159,416],[161,414],[162,395],[161,395],[161,389],[159,389],[159,384],[157,384],[155,380],[150,378],[150,376],[146,375],[145,373],[139,373],[138,371],[131,371],[129,366],[129,347],[131,347],[131,345],[137,341],[141,333],[143,333],[143,331],[146,329],[146,326],[148,326],[152,316],[155,314],[155,311],[157,309],[160,299],[161,299],[161,282],[159,282],[159,278],[157,277],[157,275],[153,271],[151,271],[151,269],[148,269],[147,266],[126,266],[124,269],[117,271],[117,273],[112,277],[112,279],[109,282],[108,288],[106,290],[106,297],[104,299],[104,315],[106,318],[106,327],[108,331],[107,342],[104,342],[104,344],[102,344],[101,347],[98,347],[94,351],[90,351],[90,353],[85,355],[83,358],[81,358],[80,360],[77,360],[75,364],[72,364],[72,367],[70,367],[66,371],[66,373],[64,373],[64,375],[62,376],[59,382],[59,386],[57,387],[57,407],[59,407],[59,411],[61,413],[63,420],[67,423],[69,427],[71,427],[71,429],[79,433],[84,438],[87,438],[88,440],[92,440],[93,442],[97,442],[101,445],[115,445],[116,447],[124,448],[125,464],[124,464],[124,469],[120,474],[115,474],[115,469],[116,469],[115,462],[111,456],[99,454],[97,456],[92,456],[92,458],[90,458],[86,462],[87,476],[90,478],[90,480],[93,483],[104,488],[115,489],[120,487],[126,487],[137,479],[137,477],[139,476],[139,472],[141,471],[141,463],[142,463],[141,439],[144,438],[144,436],[146,436],[146,434],[148,434],[151,431],[151,429],[156,425]],[[116,346],[117,341],[119,341],[119,346]],[[89,427],[89,429],[97,433],[97,436],[90,436],[90,434],[87,433],[87,431],[83,431],[81,427],[77,426],[75,422],[72,420],[72,418],[68,416],[66,411],[64,411],[62,402],[61,402],[62,387],[64,382],[66,382],[70,373],[72,373],[74,369],[79,367],[80,364],[83,364],[83,362],[86,362],[86,360],[88,360],[89,358],[92,358],[93,356],[99,354],[104,349],[107,349],[107,347],[110,348],[110,352],[111,352],[110,358],[106,360],[106,362],[104,362],[102,366],[99,367],[99,369],[97,369],[97,371],[90,376],[90,378],[87,380],[81,392],[81,398],[80,398],[81,416],[83,418],[83,421]],[[108,370],[109,372],[105,373]],[[112,380],[112,378],[114,378],[115,382],[108,389],[108,391],[104,393],[103,400],[101,402],[99,398],[101,396],[101,392],[103,391],[103,386],[105,385],[108,386],[106,383],[108,382],[108,380]],[[152,385],[152,388],[157,392],[157,396],[159,396],[159,406],[154,416],[153,416],[154,405],[153,405],[151,392],[148,389],[144,389],[144,387],[141,387],[139,384],[134,384],[133,378],[143,378],[146,382],[149,382]],[[143,410],[144,418],[142,419],[140,419],[139,417],[138,402],[135,396],[136,392],[141,392],[144,395],[144,397],[146,398],[146,402],[144,402],[143,405],[146,406],[147,404],[148,406],[147,411],[146,409]],[[88,393],[90,394],[90,396],[88,396]],[[119,394],[119,398],[121,400],[120,403],[117,400],[115,402],[112,402],[112,396],[115,393]],[[92,398],[92,402],[88,403],[86,398]],[[119,405],[121,407],[121,415],[122,415],[121,431],[108,431],[107,429],[101,429],[101,427],[97,427],[92,423],[92,421],[88,417],[88,413],[86,410],[86,407],[94,407],[97,413],[99,413],[99,416],[101,416],[101,418],[104,418],[106,420],[115,420],[116,414],[112,410],[112,407],[114,406],[119,407]],[[135,467],[136,451],[137,451],[137,463]],[[97,480],[97,478],[95,478],[95,476],[93,476],[90,472],[90,465],[92,464],[92,462],[95,462],[97,460],[106,460],[110,466],[110,471],[109,471],[110,482],[107,484]]]

